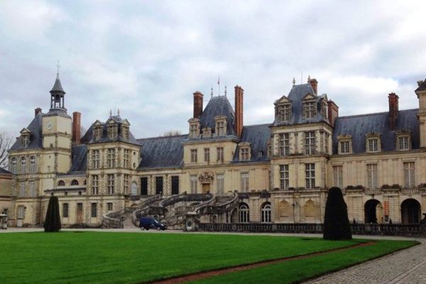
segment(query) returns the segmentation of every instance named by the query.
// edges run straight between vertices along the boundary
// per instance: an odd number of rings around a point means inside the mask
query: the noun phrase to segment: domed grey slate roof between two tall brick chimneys
[[[214,133],[214,127],[216,125],[216,121],[214,121],[214,116],[223,115],[226,116],[226,135],[235,136],[234,129],[234,109],[232,109],[229,100],[224,97],[212,97],[207,106],[202,111],[200,115],[200,124],[201,129],[204,127],[209,127],[212,129],[212,133]]]

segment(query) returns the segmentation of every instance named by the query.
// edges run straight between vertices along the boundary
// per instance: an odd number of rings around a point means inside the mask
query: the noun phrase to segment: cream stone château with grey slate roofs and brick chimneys
[[[80,133],[81,114],[67,114],[58,75],[50,109],[35,109],[9,151],[0,209],[13,226],[42,224],[55,195],[63,225],[100,226],[158,196],[156,217],[169,221],[191,211],[201,222],[322,223],[328,189],[337,186],[351,221],[418,223],[426,81],[417,84],[418,109],[398,109],[391,93],[383,96],[389,111],[339,116],[317,80],[293,83],[271,102],[274,121],[258,125],[244,125],[242,87],[234,87],[234,107],[226,94],[204,107],[195,92],[187,134],[135,138],[130,121],[112,113]]]

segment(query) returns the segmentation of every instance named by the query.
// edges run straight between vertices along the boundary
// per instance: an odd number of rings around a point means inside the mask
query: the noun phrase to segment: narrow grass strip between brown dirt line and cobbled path
[[[248,271],[227,273],[190,283],[300,283],[302,280],[353,266],[368,259],[377,258],[415,244],[418,244],[418,242],[377,241],[372,246],[362,246],[347,251],[336,251],[321,256],[275,263]]]

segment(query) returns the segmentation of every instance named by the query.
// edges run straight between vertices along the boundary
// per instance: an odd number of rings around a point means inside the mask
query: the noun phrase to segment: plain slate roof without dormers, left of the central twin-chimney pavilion
[[[186,138],[187,135],[138,139],[141,145],[139,169],[181,167],[182,141]]]

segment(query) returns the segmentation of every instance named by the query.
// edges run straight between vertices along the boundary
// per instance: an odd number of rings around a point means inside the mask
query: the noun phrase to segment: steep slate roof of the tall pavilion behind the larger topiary
[[[313,96],[317,97],[317,116],[315,116],[312,119],[305,119],[302,116],[302,99],[306,96],[306,94],[312,94]],[[290,93],[288,94],[287,98],[291,102],[291,118],[290,121],[280,121],[278,122],[276,117],[275,121],[273,121],[273,126],[280,126],[280,125],[288,125],[288,124],[307,124],[310,122],[320,122],[320,121],[326,121],[327,117],[322,116],[321,111],[321,102],[324,99],[324,95],[317,96],[315,95],[314,89],[312,89],[311,84],[296,84],[294,85]]]

